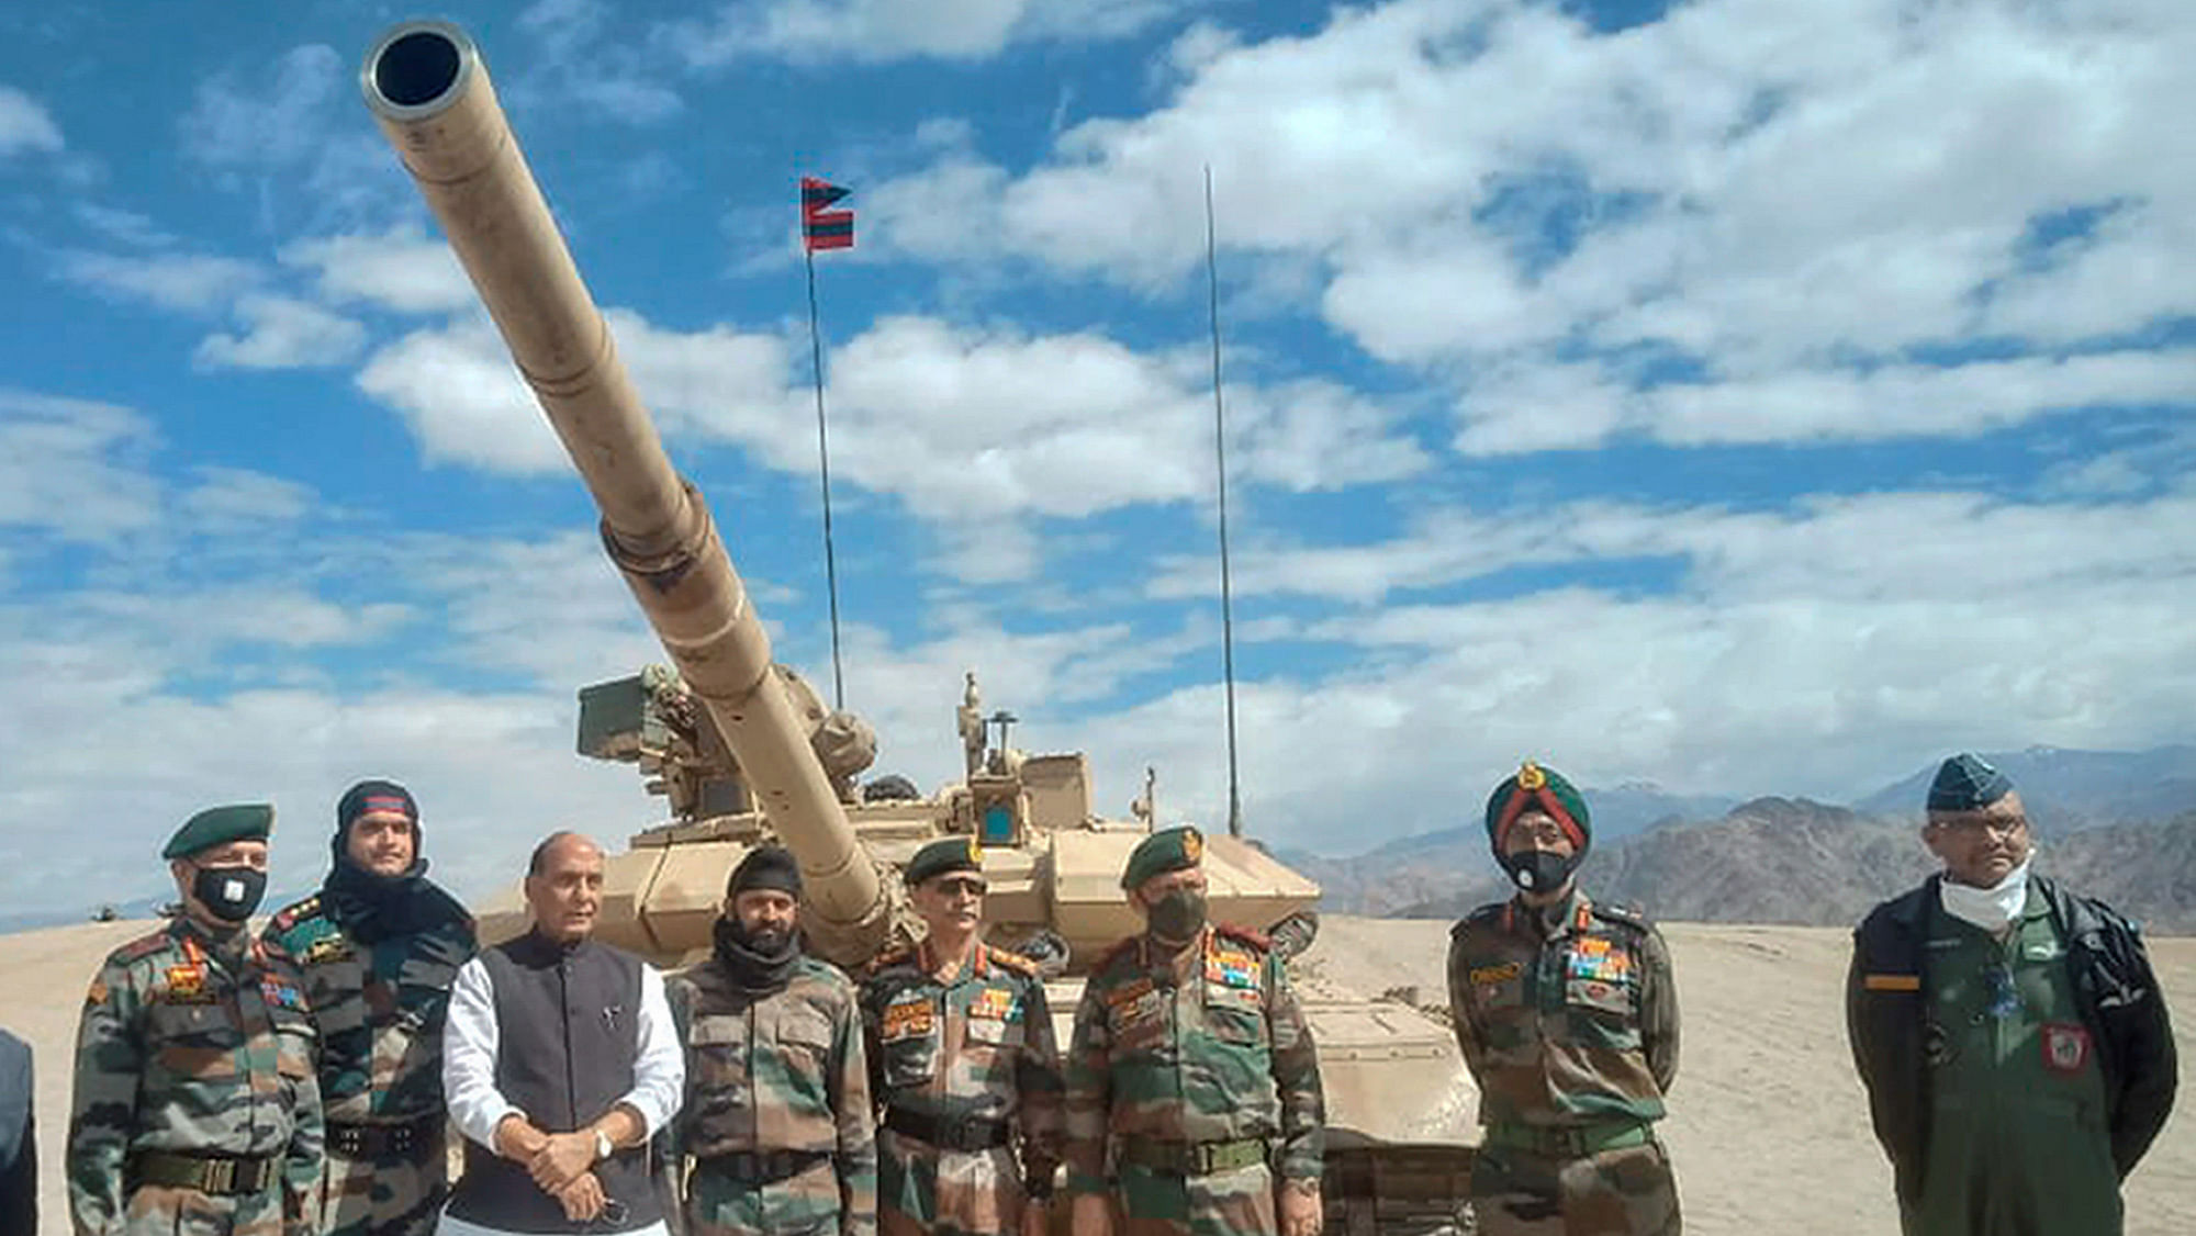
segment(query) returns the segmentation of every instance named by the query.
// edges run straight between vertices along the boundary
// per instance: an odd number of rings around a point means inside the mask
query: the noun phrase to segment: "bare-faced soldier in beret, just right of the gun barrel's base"
[[[922,944],[861,986],[883,1236],[1041,1236],[1061,1164],[1061,1054],[1037,966],[988,948],[975,836],[925,845],[907,887]],[[1021,1166],[1015,1133],[1021,1133]]]

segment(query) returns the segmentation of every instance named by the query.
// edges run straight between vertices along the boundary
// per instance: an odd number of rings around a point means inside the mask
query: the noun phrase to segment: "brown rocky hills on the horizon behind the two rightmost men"
[[[2104,898],[2154,933],[2196,933],[2196,812],[2170,823],[2044,836],[2038,874]],[[1805,799],[1755,799],[1708,823],[1596,847],[1588,889],[1676,922],[1842,926],[1937,869],[1911,821],[1862,817]],[[1460,918],[1509,896],[1493,874],[1394,918]]]

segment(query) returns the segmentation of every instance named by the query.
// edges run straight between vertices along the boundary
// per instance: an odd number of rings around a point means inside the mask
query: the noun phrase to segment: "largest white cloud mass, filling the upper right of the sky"
[[[2130,362],[2053,351],[2196,312],[2196,136],[2156,105],[2192,64],[2196,15],[2132,0],[1706,0],[1621,35],[1397,0],[1302,37],[1197,26],[1159,108],[1069,127],[1019,173],[953,147],[867,200],[881,248],[1173,288],[1201,259],[1210,162],[1221,244],[1311,263],[1324,321],[1449,386],[1471,452],[1640,424],[1974,432],[2108,397]],[[2038,222],[2099,204],[2097,235],[2038,266]],[[1992,386],[1992,367],[1908,360],[1979,336],[2027,345],[2060,391],[1987,391],[1972,415],[1871,402]],[[1638,400],[1658,380],[1640,349],[1695,362],[1702,389]],[[1807,384],[1836,411],[1759,413]]]

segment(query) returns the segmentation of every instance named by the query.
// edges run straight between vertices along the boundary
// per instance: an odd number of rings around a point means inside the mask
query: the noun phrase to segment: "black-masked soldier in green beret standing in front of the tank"
[[[1206,922],[1203,836],[1129,856],[1146,931],[1091,968],[1067,1049],[1076,1236],[1315,1236],[1320,1060],[1269,942]],[[1113,1181],[1107,1159],[1111,1148]]]

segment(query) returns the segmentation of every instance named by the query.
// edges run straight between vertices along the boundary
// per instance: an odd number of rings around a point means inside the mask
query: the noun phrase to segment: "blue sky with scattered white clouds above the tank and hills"
[[[657,650],[358,101],[391,7],[0,13],[0,898],[277,863],[393,775],[461,889],[652,823],[571,755]],[[957,768],[964,670],[1120,814],[1351,852],[1522,755],[1847,797],[2196,698],[2178,0],[452,4],[780,656]],[[1460,786],[1460,788],[1458,788]],[[70,843],[55,847],[55,832]]]

